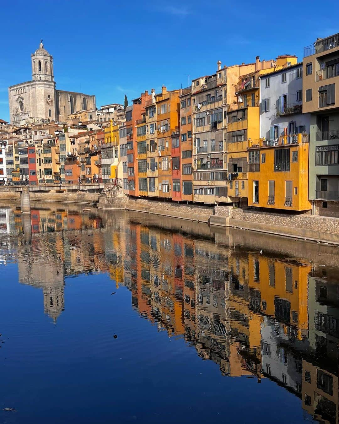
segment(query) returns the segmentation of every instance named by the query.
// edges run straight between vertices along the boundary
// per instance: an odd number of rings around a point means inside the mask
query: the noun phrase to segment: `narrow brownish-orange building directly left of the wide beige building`
[[[181,90],[180,99],[180,146],[181,146],[181,200],[193,200],[192,167],[192,87]]]

